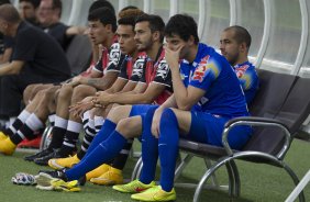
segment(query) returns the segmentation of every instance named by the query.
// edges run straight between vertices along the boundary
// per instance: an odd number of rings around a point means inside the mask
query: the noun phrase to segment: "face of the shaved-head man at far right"
[[[240,57],[241,44],[234,40],[232,30],[224,31],[221,34],[220,50],[231,65],[235,65]]]

